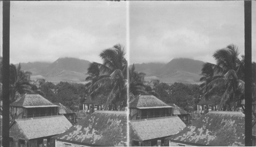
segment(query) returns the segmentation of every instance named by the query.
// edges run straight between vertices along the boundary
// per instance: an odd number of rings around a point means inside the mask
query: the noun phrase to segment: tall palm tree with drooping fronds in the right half
[[[219,95],[221,109],[237,109],[244,99],[243,57],[239,58],[238,47],[233,44],[217,50],[213,57],[217,64],[205,63],[202,68],[204,96]]]

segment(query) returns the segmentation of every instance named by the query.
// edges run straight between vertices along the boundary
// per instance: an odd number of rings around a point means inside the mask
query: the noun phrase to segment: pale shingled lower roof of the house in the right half
[[[178,116],[131,120],[130,124],[142,140],[174,135],[186,127]]]

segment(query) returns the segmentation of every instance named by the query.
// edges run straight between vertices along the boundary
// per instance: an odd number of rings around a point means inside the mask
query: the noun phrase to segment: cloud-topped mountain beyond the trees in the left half
[[[53,83],[84,82],[90,62],[76,58],[59,58],[53,63],[29,62],[21,63],[22,69],[32,72],[31,79],[46,79]]]

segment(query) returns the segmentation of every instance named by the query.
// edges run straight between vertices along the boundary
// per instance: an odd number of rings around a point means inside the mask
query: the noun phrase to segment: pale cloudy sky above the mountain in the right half
[[[256,16],[252,17],[256,61]],[[130,63],[167,63],[173,58],[214,62],[212,54],[230,43],[244,54],[244,2],[132,1],[130,31]]]

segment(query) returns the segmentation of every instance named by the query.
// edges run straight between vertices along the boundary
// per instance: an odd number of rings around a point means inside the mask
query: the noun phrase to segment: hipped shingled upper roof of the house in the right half
[[[172,108],[153,95],[139,95],[129,104],[129,108]]]

